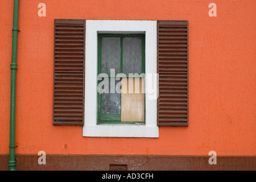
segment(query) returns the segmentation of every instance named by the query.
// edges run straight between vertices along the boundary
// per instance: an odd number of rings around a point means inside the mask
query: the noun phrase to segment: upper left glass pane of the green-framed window
[[[121,67],[121,42],[120,38],[101,39],[101,72],[110,74],[110,69],[115,69],[115,74],[120,73]]]

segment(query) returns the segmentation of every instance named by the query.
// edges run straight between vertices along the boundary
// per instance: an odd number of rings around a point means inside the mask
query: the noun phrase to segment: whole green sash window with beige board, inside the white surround
[[[98,124],[144,123],[144,54],[144,34],[98,34]]]

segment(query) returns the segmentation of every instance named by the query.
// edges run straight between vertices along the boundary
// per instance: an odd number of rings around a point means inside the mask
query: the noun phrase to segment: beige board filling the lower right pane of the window
[[[121,121],[144,122],[144,78],[122,78]]]

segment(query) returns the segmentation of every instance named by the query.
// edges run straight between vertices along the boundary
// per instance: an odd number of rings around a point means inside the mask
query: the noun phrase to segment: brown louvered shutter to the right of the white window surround
[[[188,21],[158,20],[158,126],[188,126]]]

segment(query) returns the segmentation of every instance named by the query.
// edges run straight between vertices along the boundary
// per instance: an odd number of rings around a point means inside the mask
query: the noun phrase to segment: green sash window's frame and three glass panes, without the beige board
[[[110,69],[114,69],[114,74]],[[123,77],[127,77],[127,80],[129,77],[144,77],[145,34],[98,34],[98,75],[100,73],[105,74],[98,77],[98,90],[108,89],[109,93],[98,92],[97,123],[137,123],[121,121],[121,110],[125,107],[121,106],[121,80]],[[109,88],[102,84],[103,81],[107,81],[105,79],[108,79]],[[113,88],[116,88],[114,93]]]

